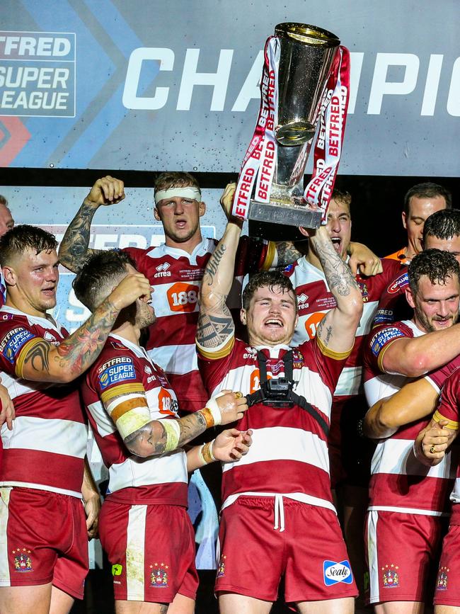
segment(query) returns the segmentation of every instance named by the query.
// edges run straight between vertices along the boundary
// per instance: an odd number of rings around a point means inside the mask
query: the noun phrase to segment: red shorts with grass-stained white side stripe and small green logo
[[[195,535],[185,508],[109,498],[99,535],[112,564],[115,600],[171,603],[177,593],[195,599]]]

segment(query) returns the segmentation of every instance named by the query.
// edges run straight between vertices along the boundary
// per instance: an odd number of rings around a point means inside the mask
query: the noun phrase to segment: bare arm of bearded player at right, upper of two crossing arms
[[[460,354],[460,324],[420,337],[401,336],[384,349],[380,364],[386,373],[420,377]]]

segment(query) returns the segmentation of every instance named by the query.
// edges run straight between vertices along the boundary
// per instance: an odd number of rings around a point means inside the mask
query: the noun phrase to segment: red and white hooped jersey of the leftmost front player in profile
[[[24,380],[34,344],[59,345],[67,331],[52,319],[0,309],[1,383],[14,403],[13,430],[1,427],[0,486],[54,491],[81,498],[88,428],[78,385]]]

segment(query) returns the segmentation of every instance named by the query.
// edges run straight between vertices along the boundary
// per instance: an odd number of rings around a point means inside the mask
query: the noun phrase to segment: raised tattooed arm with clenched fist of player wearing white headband
[[[98,179],[93,185],[76,216],[67,227],[59,246],[59,261],[69,271],[78,272],[88,256],[99,251],[88,248],[91,222],[98,207],[120,203],[123,198],[125,198],[125,185],[120,179],[108,175]]]

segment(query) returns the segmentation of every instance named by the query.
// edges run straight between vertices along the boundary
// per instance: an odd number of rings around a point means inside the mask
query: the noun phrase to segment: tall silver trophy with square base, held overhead
[[[304,200],[303,178],[323,91],[340,40],[327,30],[304,23],[280,23],[275,36],[280,41],[277,162],[270,202],[252,199],[248,218],[317,228],[322,211]]]

